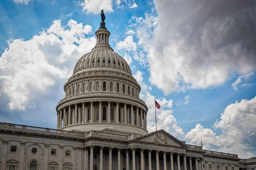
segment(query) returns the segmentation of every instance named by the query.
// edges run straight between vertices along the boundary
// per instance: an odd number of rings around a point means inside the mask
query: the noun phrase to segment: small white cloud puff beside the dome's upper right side
[[[124,50],[124,51],[136,51],[137,45],[133,41],[132,36],[128,36],[125,38],[124,41],[119,41],[116,43],[117,50]]]

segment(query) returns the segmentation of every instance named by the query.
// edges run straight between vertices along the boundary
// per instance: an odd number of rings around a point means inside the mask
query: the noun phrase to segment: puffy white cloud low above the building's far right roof
[[[221,131],[220,135],[198,124],[186,133],[185,138],[195,144],[200,144],[202,140],[204,149],[217,146],[218,151],[239,154],[241,158],[255,156],[256,97],[228,105],[220,119],[212,126]]]

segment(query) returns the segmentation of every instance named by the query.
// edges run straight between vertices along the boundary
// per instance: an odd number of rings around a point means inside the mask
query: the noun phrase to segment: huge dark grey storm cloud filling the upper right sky
[[[147,53],[150,82],[164,94],[218,86],[234,74],[255,70],[253,1],[155,0],[154,4],[157,14],[132,17],[130,27]]]

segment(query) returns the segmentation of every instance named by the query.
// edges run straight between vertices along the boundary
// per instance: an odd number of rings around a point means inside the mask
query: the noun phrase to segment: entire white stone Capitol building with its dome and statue
[[[104,20],[95,47],[64,85],[57,129],[0,123],[1,170],[256,170],[255,157],[203,150],[164,130],[148,133],[140,85],[109,45]]]

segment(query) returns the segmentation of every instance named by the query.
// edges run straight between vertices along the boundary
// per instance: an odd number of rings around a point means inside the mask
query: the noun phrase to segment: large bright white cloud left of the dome
[[[9,108],[35,108],[35,100],[48,87],[70,77],[69,68],[93,48],[95,38],[84,35],[90,32],[91,26],[75,20],[69,20],[67,26],[55,20],[49,29],[29,40],[9,41],[0,57],[0,92],[9,98]]]

